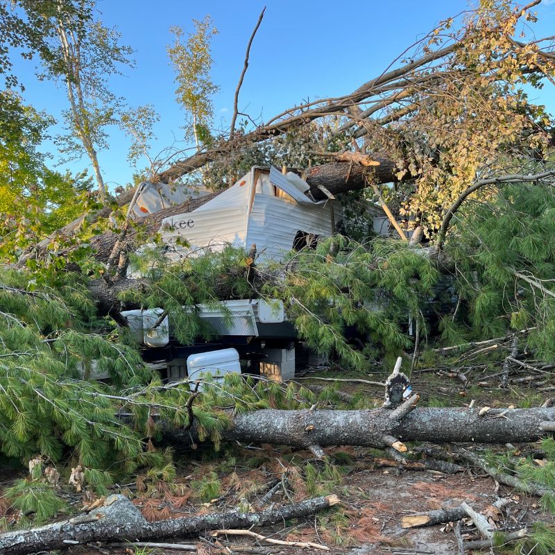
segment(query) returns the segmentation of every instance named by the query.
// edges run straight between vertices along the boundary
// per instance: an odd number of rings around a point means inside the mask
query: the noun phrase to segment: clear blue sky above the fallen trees
[[[228,124],[233,96],[243,67],[246,44],[264,1],[254,0],[98,0],[107,26],[117,26],[122,42],[135,50],[134,69],[112,78],[111,87],[130,105],[151,103],[160,114],[155,127],[154,154],[182,140],[184,114],[176,104],[173,69],[166,47],[169,28],[191,30],[191,19],[210,14],[219,35],[214,37],[212,77],[221,90],[214,96],[216,125]],[[267,0],[266,14],[250,53],[250,65],[241,88],[239,108],[253,117],[268,119],[302,100],[348,94],[387,65],[442,19],[468,8],[464,0]],[[537,35],[555,28],[555,0],[536,8]],[[531,35],[529,35],[531,36]],[[17,62],[26,86],[24,97],[56,119],[67,105],[65,92],[33,76],[33,62]],[[551,85],[548,85],[551,87]],[[533,92],[550,108],[553,89]],[[56,129],[52,130],[56,133]],[[186,144],[182,145],[187,146]],[[44,148],[55,156],[55,147]],[[110,132],[110,149],[99,153],[110,188],[129,182],[133,168],[126,160],[128,141],[119,130]],[[88,167],[87,160],[62,166],[72,171]]]

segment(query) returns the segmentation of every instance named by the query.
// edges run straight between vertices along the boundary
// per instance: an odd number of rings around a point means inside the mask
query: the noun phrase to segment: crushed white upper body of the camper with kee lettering
[[[152,184],[148,184],[152,185]],[[187,200],[191,191],[145,187],[137,197],[135,214],[157,212]],[[168,189],[168,190],[166,190]],[[185,192],[184,192],[185,191]],[[343,219],[334,198],[314,200],[309,186],[297,173],[275,167],[253,167],[232,187],[191,212],[162,220],[160,234],[168,255],[179,259],[195,250],[220,250],[226,244],[249,248],[256,244],[261,259],[279,260],[293,247],[329,237]],[[201,191],[201,196],[205,191]],[[387,218],[368,203],[374,231],[386,234]]]

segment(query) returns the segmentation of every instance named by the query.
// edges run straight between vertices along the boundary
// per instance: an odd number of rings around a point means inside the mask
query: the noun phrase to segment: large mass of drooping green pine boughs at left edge
[[[113,464],[117,452],[123,468],[142,451],[133,429],[114,418],[112,388],[79,377],[92,360],[114,387],[151,375],[117,335],[92,333],[92,316],[94,303],[75,275],[38,285],[24,273],[0,272],[1,452],[59,461],[69,446],[90,468]]]

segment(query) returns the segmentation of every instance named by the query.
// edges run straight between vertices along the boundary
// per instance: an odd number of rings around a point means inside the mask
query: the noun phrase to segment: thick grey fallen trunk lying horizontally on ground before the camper
[[[545,436],[545,422],[555,420],[555,409],[490,409],[480,416],[479,409],[412,409],[415,402],[412,398],[394,410],[253,411],[232,416],[233,425],[223,437],[304,448],[393,445],[402,451],[402,441],[528,443]],[[171,443],[191,441],[189,432],[170,427],[163,434]]]

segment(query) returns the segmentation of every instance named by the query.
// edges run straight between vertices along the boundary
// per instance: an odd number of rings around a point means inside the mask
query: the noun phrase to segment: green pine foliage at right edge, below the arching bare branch
[[[545,237],[555,232],[554,214],[552,191],[529,184],[504,185],[488,203],[466,209],[446,246],[461,303],[456,318],[443,319],[447,341],[536,326],[529,347],[541,359],[555,356],[555,302],[541,289],[553,291],[555,246]]]

